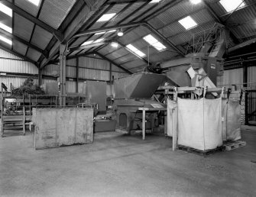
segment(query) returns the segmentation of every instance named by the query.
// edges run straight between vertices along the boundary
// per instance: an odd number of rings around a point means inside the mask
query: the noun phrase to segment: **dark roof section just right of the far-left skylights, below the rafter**
[[[13,33],[18,37],[29,41],[33,31],[34,23],[28,21],[26,18],[21,17],[21,15],[15,14],[13,17],[15,18]]]

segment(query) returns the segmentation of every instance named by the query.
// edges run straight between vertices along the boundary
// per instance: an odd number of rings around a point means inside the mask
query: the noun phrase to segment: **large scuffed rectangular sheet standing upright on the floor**
[[[92,108],[37,109],[33,119],[36,150],[93,141]]]

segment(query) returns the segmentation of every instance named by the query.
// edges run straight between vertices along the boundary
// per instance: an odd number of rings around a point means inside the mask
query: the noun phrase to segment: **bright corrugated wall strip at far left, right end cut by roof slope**
[[[33,63],[0,58],[0,72],[38,74],[38,69]]]

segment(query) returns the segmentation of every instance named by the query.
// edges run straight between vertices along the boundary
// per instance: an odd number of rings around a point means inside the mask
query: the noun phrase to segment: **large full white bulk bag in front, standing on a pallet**
[[[197,150],[222,146],[222,99],[180,99],[178,144]]]

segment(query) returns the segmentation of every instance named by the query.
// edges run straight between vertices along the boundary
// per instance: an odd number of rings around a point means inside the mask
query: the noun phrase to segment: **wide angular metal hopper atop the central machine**
[[[151,98],[165,78],[154,73],[137,73],[115,79],[115,98]]]

